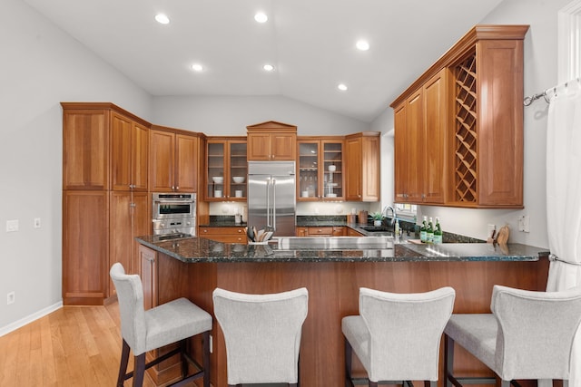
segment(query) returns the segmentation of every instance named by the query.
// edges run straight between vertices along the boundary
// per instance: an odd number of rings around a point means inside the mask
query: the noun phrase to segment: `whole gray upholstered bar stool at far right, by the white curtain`
[[[492,314],[452,314],[446,337],[447,386],[462,382],[561,379],[569,377],[571,348],[581,322],[581,288],[533,292],[495,285]],[[464,347],[497,374],[497,378],[453,375],[454,343]]]

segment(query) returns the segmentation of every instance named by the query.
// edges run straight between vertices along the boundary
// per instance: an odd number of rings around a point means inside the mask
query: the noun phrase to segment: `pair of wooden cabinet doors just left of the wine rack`
[[[444,202],[447,72],[442,69],[395,108],[397,202]]]

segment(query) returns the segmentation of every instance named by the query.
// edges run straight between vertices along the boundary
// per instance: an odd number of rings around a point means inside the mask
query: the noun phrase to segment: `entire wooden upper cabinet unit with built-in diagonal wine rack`
[[[523,40],[527,30],[528,25],[475,26],[391,103],[396,126],[396,201],[523,207]],[[418,92],[421,112],[409,106]],[[425,142],[414,145],[406,140],[413,136],[411,128],[420,128]],[[409,143],[403,145],[404,141]],[[409,167],[399,165],[409,162],[414,152],[416,159],[422,159],[419,154],[424,158],[419,196],[409,190],[416,176]]]

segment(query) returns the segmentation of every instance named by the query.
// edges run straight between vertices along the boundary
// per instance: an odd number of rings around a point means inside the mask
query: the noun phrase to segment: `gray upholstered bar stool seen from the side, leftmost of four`
[[[192,304],[185,298],[145,311],[143,308],[142,281],[137,275],[126,275],[123,266],[116,263],[109,272],[117,290],[121,313],[121,335],[123,349],[117,386],[133,377],[133,386],[143,385],[143,373],[157,363],[169,359],[177,353],[182,354],[182,381],[172,386],[181,386],[194,379],[203,378],[203,387],[210,387],[210,331],[212,315]],[[186,377],[188,363],[185,357],[185,339],[202,334],[202,370]],[[165,353],[150,363],[145,363],[145,353],[171,343],[180,343],[175,350]],[[134,371],[127,372],[129,352],[133,351]]]

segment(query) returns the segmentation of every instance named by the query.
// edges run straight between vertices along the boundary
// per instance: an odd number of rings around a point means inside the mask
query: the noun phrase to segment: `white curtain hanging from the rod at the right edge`
[[[581,285],[581,87],[569,83],[556,89],[548,110],[547,228],[556,260],[549,267],[547,291]],[[579,331],[569,386],[581,387]]]

